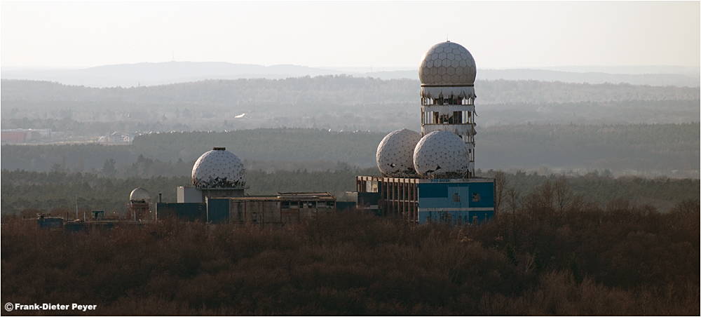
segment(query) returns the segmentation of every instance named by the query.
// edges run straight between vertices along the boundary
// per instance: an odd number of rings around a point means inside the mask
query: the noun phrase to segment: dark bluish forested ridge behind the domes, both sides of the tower
[[[576,175],[608,169],[617,176],[697,178],[699,131],[698,123],[491,126],[477,130],[475,161],[484,170],[547,168]],[[226,147],[248,169],[318,171],[337,162],[375,166],[385,135],[307,128],[152,133],[128,145],[7,144],[0,155],[7,170],[96,172],[113,160],[111,175],[118,177],[182,176],[205,151]],[[151,160],[148,168],[132,167],[139,156]]]

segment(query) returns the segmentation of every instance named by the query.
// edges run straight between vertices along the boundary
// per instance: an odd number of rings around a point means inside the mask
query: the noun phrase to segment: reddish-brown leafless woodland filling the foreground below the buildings
[[[559,208],[548,188],[479,226],[345,212],[64,233],[6,218],[1,299],[113,316],[700,313],[698,200],[665,214],[627,201]]]

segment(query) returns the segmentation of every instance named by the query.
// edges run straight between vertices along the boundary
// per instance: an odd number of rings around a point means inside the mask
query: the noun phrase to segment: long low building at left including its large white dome
[[[336,211],[336,197],[328,192],[246,196],[245,182],[240,159],[215,147],[195,162],[192,186],[177,187],[177,203],[156,204],[156,220],[285,224]]]

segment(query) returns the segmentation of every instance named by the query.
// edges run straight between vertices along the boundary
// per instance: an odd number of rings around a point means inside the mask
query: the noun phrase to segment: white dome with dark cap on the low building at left
[[[192,184],[198,188],[243,187],[245,182],[243,163],[224,147],[202,154],[192,168]]]

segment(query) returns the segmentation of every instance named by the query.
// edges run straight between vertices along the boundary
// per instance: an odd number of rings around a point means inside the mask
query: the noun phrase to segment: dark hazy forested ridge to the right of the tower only
[[[698,177],[699,130],[697,123],[492,126],[475,137],[475,162],[495,169],[550,166]]]

